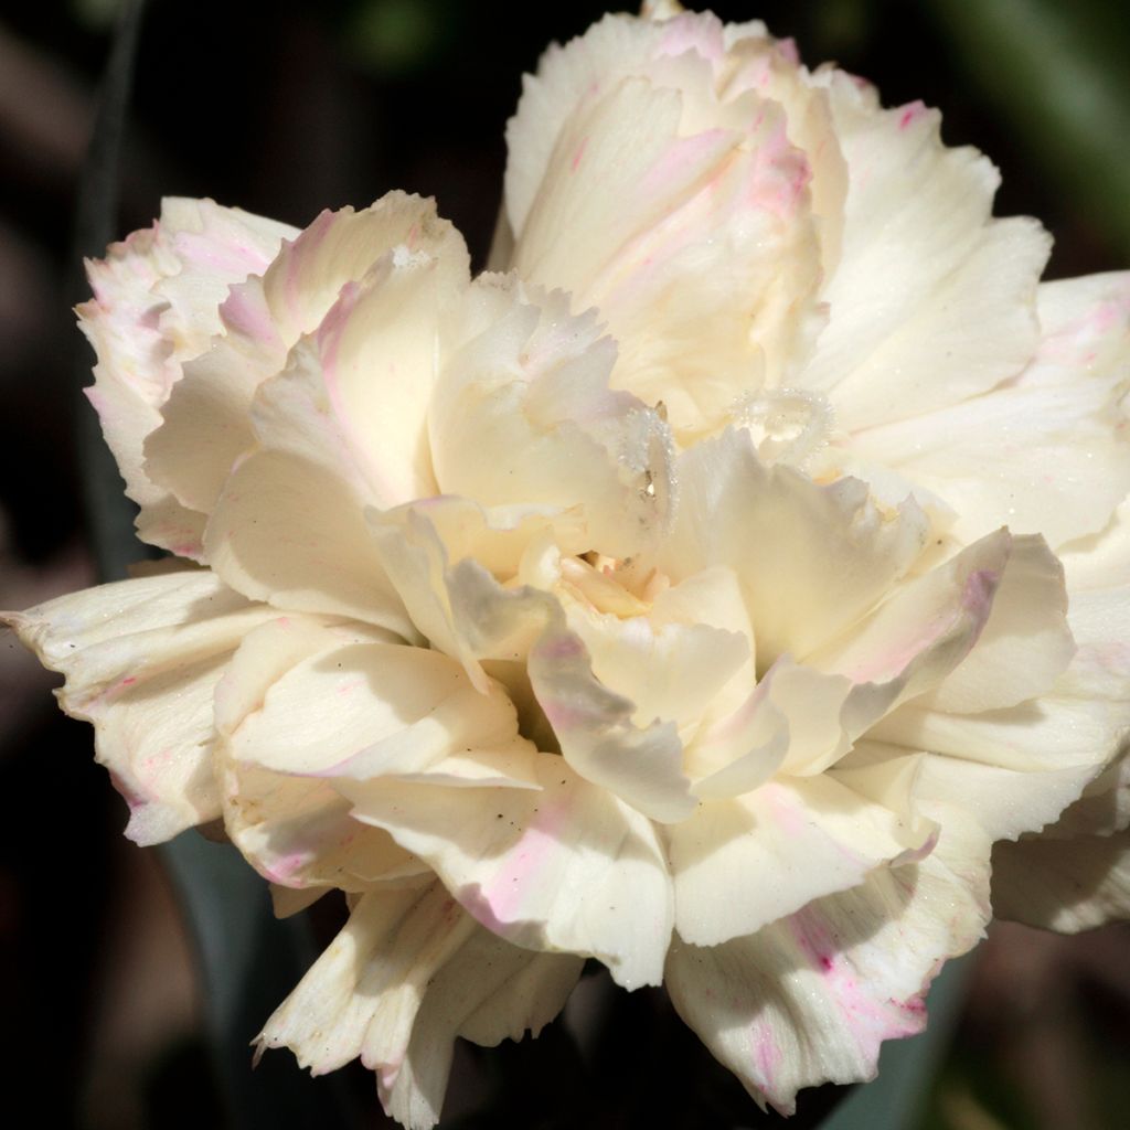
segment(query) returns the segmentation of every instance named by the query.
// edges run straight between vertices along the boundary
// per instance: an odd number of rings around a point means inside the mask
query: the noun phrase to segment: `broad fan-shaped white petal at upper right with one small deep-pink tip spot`
[[[840,263],[820,292],[831,316],[799,386],[826,394],[855,432],[1018,373],[1038,340],[1046,234],[992,219],[997,171],[945,147],[937,111],[881,110],[840,71],[811,81],[828,92],[849,188]]]

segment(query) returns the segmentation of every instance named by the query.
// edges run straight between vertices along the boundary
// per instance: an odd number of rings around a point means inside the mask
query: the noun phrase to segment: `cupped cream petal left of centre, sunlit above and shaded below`
[[[466,271],[466,254],[445,243],[394,249],[342,288],[286,370],[259,386],[259,449],[228,477],[205,537],[233,586],[415,637],[365,510],[435,493],[426,410],[440,321]]]

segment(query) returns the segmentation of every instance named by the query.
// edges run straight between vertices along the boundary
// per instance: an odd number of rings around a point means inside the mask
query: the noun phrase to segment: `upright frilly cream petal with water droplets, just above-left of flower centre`
[[[560,293],[514,276],[471,288],[428,416],[444,494],[484,506],[568,511],[567,553],[626,557],[662,534],[670,435],[657,412],[612,392],[615,344]]]

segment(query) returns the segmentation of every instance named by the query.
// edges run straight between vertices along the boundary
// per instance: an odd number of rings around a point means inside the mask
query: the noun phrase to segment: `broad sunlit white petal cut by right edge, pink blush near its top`
[[[1045,284],[1038,308],[1043,339],[1016,380],[851,440],[945,499],[964,541],[1007,522],[1060,546],[1102,530],[1130,490],[1128,276]]]

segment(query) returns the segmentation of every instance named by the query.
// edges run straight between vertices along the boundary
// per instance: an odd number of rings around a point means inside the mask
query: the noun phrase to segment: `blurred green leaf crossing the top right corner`
[[[1130,20],[1123,2],[929,0],[1035,162],[1130,253]]]

